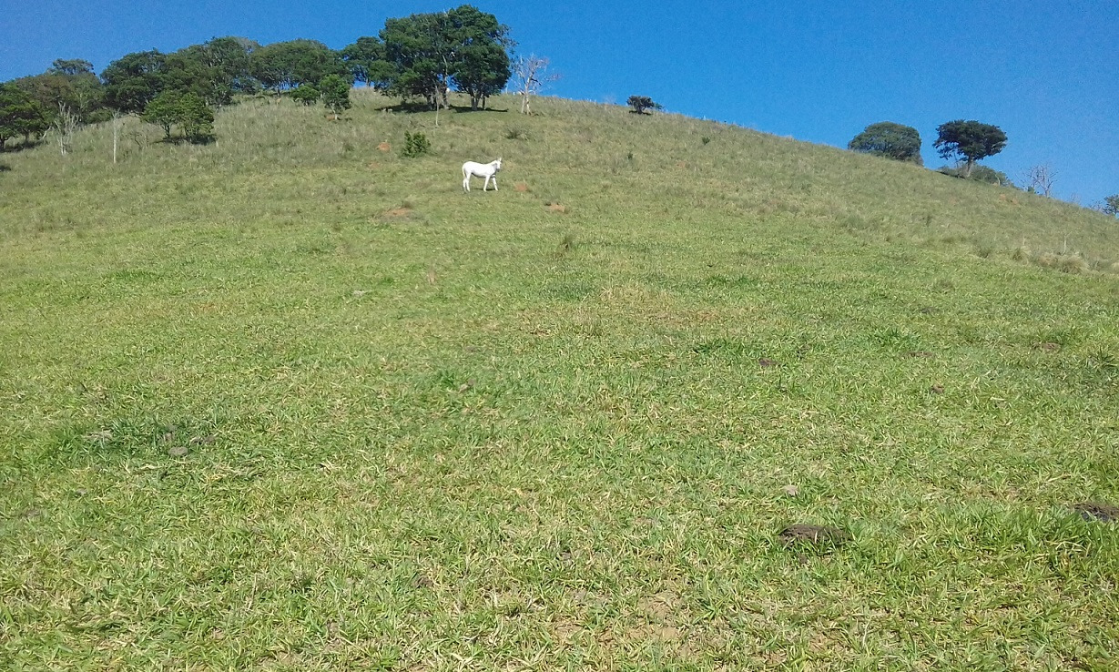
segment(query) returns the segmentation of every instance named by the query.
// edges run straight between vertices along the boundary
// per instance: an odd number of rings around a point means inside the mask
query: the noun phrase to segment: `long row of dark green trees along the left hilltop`
[[[238,96],[289,94],[322,102],[335,116],[349,108],[355,83],[427,108],[448,106],[450,91],[485,108],[510,77],[509,27],[493,15],[457,9],[391,18],[377,36],[342,49],[312,39],[260,45],[218,37],[164,54],[125,54],[101,74],[84,59],[57,59],[47,72],[0,83],[0,151],[9,140],[39,140],[68,120],[77,124],[135,114],[191,141],[213,136],[214,110]]]

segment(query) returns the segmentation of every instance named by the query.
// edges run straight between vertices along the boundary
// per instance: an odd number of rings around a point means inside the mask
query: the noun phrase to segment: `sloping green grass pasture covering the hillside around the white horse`
[[[1119,668],[1115,220],[491,103],[4,155],[0,669]]]

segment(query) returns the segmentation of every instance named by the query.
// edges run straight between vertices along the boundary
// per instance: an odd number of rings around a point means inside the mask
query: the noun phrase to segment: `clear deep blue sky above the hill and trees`
[[[0,0],[0,81],[55,58],[101,72],[129,52],[225,35],[341,48],[387,17],[459,3]],[[1060,198],[1119,193],[1117,0],[474,4],[510,26],[521,53],[552,59],[555,95],[648,95],[671,112],[837,147],[895,121],[920,131],[930,167],[943,164],[937,125],[977,119],[1008,136],[985,164],[1016,184],[1047,164]]]

